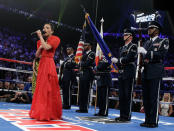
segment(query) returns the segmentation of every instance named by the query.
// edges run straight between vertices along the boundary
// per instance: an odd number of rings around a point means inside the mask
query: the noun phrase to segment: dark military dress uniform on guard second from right
[[[120,117],[116,121],[130,121],[132,108],[132,93],[135,79],[135,60],[137,58],[137,45],[130,42],[120,48],[119,67],[119,106]]]

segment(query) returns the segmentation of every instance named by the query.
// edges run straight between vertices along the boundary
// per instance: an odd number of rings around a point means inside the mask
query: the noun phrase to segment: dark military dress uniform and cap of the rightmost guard
[[[151,23],[149,26],[158,26]],[[169,48],[169,40],[156,36],[144,43],[147,51],[143,55],[144,70],[142,72],[143,104],[145,123],[141,126],[158,126],[158,106],[160,84],[164,73],[163,60]]]

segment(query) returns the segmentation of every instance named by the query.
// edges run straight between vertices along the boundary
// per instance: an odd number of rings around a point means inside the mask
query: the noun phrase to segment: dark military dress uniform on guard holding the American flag
[[[93,81],[93,67],[94,67],[95,53],[93,51],[87,51],[83,54],[81,62],[79,64],[80,77],[79,77],[79,96],[78,104],[79,110],[76,112],[88,112],[88,104],[90,98],[90,88]]]

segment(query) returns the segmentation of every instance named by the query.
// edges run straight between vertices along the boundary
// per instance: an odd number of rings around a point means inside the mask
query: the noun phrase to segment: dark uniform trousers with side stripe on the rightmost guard
[[[142,79],[145,123],[158,124],[158,107],[161,78]]]

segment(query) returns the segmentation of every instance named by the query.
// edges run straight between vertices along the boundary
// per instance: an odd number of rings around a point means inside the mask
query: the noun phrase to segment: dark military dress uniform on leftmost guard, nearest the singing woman
[[[72,85],[76,80],[76,75],[74,68],[76,66],[74,61],[74,55],[68,56],[62,64],[62,79],[61,79],[61,88],[63,91],[63,108],[71,108],[71,96],[72,96]]]

